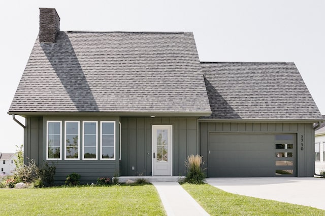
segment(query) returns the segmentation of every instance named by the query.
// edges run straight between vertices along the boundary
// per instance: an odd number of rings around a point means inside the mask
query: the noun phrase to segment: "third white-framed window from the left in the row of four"
[[[97,121],[83,121],[83,159],[97,159]]]

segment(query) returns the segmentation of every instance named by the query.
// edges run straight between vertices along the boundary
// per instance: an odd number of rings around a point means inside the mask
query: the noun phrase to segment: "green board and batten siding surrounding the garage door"
[[[314,175],[313,123],[200,122],[199,125],[200,150],[205,163],[208,162],[210,133],[294,133],[297,134],[297,177]]]

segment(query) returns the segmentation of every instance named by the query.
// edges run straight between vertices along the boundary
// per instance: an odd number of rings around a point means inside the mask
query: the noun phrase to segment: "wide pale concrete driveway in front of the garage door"
[[[209,178],[221,190],[325,209],[325,179],[320,178]]]

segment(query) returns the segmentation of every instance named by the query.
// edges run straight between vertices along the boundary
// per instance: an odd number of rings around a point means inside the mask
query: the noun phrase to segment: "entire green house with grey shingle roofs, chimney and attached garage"
[[[208,177],[312,177],[322,116],[293,62],[201,62],[192,32],[40,32],[9,114],[24,153],[56,182],[180,176],[190,154]],[[16,120],[16,119],[15,119]]]

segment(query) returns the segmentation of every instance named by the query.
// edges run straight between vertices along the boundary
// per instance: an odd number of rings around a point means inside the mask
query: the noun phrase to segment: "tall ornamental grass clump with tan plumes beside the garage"
[[[202,184],[205,179],[204,169],[202,168],[203,164],[202,156],[187,156],[187,159],[185,160],[185,166],[187,168],[185,182],[190,184]]]

